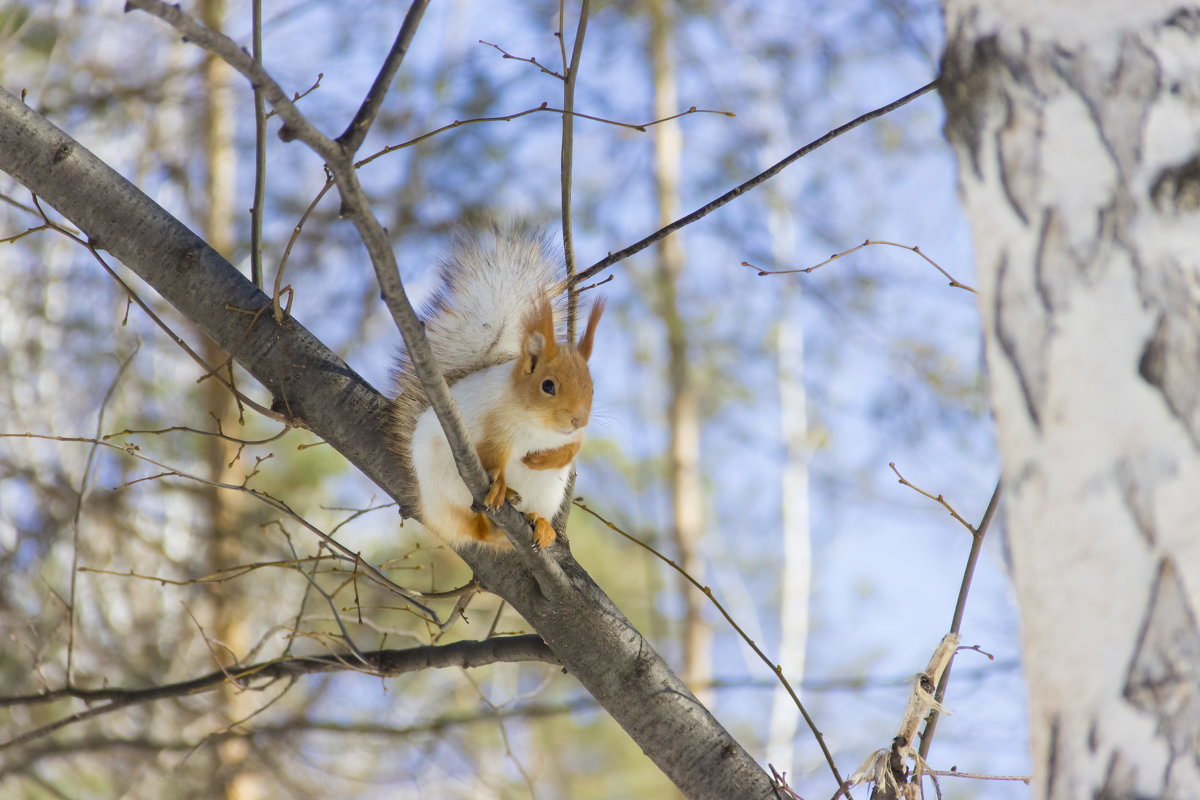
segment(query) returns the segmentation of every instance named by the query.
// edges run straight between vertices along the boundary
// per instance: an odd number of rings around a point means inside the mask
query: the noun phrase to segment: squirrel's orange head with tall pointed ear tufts
[[[588,423],[592,414],[588,359],[602,313],[604,300],[596,300],[578,344],[554,339],[554,312],[545,297],[524,318],[512,381],[521,405],[536,413],[547,428],[571,434]]]

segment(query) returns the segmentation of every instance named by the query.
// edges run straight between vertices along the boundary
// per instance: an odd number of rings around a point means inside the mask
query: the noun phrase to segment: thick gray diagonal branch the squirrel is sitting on
[[[286,411],[391,497],[388,401],[295,320],[251,318],[270,299],[85,148],[0,89],[0,169],[78,225],[229,351]],[[689,798],[768,798],[772,781],[688,691],[565,547],[530,575],[516,554],[466,551],[504,597]]]

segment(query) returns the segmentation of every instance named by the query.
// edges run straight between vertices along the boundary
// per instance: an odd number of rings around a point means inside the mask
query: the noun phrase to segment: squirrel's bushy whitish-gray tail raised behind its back
[[[562,295],[560,264],[545,234],[526,223],[492,223],[455,236],[439,265],[440,285],[421,312],[425,336],[450,385],[520,354],[528,311],[541,296]],[[401,512],[408,516],[419,512],[420,503],[412,437],[430,403],[407,349],[396,360],[394,377],[390,445],[409,479],[400,498]]]

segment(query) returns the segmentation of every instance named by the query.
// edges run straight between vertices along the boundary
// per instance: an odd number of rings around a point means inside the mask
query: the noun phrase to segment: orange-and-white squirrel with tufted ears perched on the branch
[[[566,287],[542,234],[527,224],[462,231],[439,269],[421,317],[434,357],[492,485],[526,515],[536,547],[554,518],[592,413],[588,357],[604,300],[592,305],[577,344],[556,336],[552,299]],[[396,363],[391,450],[412,480],[401,507],[454,547],[509,540],[473,499],[406,350]]]

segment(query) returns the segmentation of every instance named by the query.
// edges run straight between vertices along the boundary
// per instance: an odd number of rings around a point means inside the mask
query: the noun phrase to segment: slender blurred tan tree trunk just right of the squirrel
[[[673,5],[672,0],[656,0],[650,11],[655,119],[671,116],[677,113],[679,104],[673,60],[668,53]],[[673,121],[655,125],[653,131],[659,225],[666,225],[680,216],[679,161],[683,142],[679,126]],[[700,476],[700,408],[696,402],[696,381],[689,363],[688,329],[683,317],[679,315],[678,287],[684,264],[683,241],[679,236],[668,236],[659,243],[655,252],[658,253],[658,306],[667,329],[667,374],[671,385],[671,405],[667,413],[671,432],[668,458],[671,531],[679,554],[679,566],[688,575],[702,581],[704,563],[700,554],[700,539],[704,521]],[[703,597],[683,577],[678,581],[678,591],[684,603],[680,678],[697,693],[697,697],[707,699],[702,687],[713,676],[709,654],[713,637],[701,615]]]

